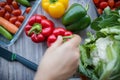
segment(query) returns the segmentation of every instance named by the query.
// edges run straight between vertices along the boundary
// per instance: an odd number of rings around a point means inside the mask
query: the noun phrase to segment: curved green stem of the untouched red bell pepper
[[[42,26],[39,23],[34,23],[30,31],[28,32],[28,35],[30,35],[32,32],[35,34],[39,34],[42,31]]]

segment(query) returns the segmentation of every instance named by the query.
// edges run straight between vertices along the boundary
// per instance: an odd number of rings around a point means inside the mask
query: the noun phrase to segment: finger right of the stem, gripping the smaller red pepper
[[[67,41],[65,44],[66,45],[71,45],[74,47],[78,47],[80,45],[81,42],[81,38],[78,35],[74,35],[74,37],[72,39],[70,39],[69,41]]]

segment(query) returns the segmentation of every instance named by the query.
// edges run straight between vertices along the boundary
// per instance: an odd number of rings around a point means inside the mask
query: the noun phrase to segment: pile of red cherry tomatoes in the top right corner
[[[103,13],[103,10],[109,6],[111,10],[115,10],[120,7],[120,0],[93,0],[95,6],[97,7],[97,11],[99,14]]]

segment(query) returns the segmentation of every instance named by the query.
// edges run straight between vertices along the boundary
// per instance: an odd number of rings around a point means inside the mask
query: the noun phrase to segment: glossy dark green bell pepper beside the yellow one
[[[91,19],[82,5],[74,3],[62,17],[62,23],[67,30],[79,32],[89,26]]]

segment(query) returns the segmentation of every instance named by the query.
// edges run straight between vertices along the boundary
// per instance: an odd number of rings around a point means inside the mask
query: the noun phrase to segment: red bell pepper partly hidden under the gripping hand
[[[51,34],[47,39],[47,45],[50,47],[56,40],[58,36],[63,36],[63,39],[66,41],[71,38],[72,32],[67,31],[64,28],[58,27],[55,28],[53,34]]]

